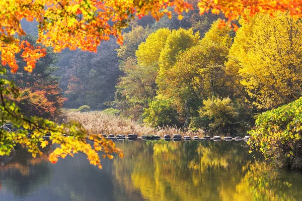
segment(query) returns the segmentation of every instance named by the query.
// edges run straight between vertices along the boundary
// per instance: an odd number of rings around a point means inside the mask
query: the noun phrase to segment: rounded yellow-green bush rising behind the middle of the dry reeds
[[[177,111],[173,108],[172,100],[157,96],[144,109],[143,122],[151,127],[178,125]]]

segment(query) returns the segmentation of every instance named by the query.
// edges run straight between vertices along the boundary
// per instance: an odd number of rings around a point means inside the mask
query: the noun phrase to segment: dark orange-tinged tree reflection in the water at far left
[[[50,151],[50,146],[43,150]],[[10,156],[1,156],[0,163],[1,191],[11,192],[17,198],[24,198],[51,182],[53,171],[48,166],[47,154],[33,158],[18,146]]]

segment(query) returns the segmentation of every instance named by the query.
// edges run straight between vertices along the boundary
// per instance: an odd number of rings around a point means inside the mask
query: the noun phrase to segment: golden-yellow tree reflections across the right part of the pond
[[[300,173],[277,170],[259,154],[254,159],[244,142],[125,141],[118,146],[125,152],[113,162],[114,192],[121,200],[140,200],[139,193],[146,200],[302,197]]]

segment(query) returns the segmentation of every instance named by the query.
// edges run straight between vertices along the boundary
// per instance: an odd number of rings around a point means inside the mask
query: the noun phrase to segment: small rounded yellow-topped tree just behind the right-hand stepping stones
[[[213,134],[230,133],[232,123],[238,115],[229,97],[222,99],[211,97],[203,100],[203,107],[201,107],[199,114],[201,119],[210,122],[203,129]]]

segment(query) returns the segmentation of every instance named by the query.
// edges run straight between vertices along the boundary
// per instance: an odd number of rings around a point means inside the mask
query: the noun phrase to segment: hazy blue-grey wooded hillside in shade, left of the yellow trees
[[[68,101],[65,108],[79,108],[89,105],[92,109],[103,110],[105,102],[114,99],[117,77],[121,74],[118,67],[116,48],[112,38],[98,47],[97,53],[67,51],[60,53],[60,87]]]

